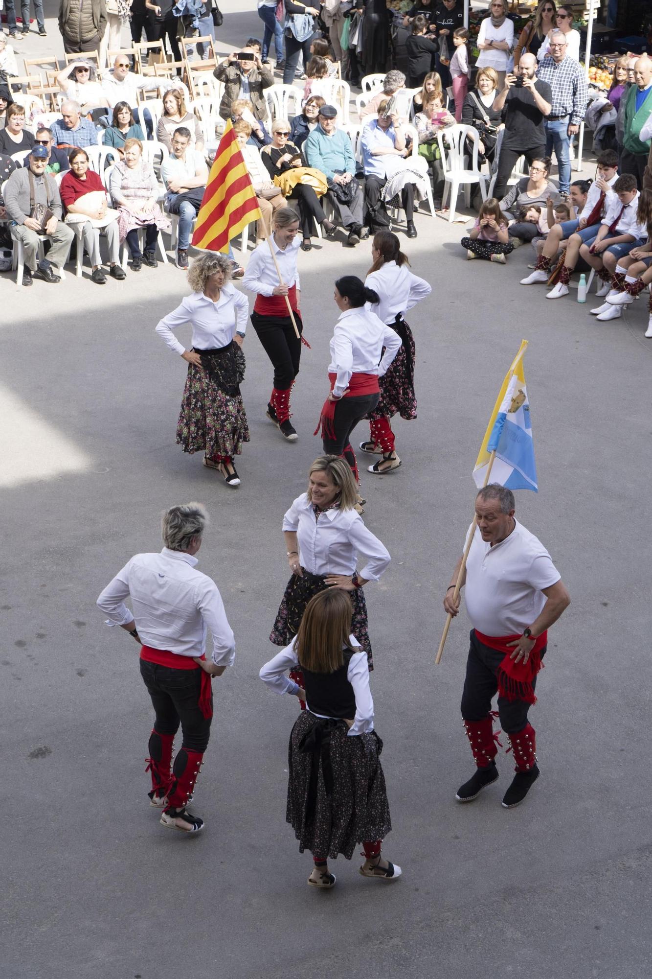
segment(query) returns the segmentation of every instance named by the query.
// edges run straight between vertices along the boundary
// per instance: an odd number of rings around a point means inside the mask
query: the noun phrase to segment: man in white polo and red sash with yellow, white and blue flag
[[[502,800],[506,809],[523,802],[539,775],[535,729],[528,720],[536,703],[536,675],[547,629],[570,604],[570,596],[545,547],[514,517],[512,489],[536,491],[530,406],[523,374],[523,344],[493,408],[474,478],[482,489],[476,515],[443,599],[449,618],[459,611],[466,585],[471,645],[461,711],[476,773],[458,790],[470,802],[498,777],[491,699],[509,737],[516,775]],[[489,483],[489,475],[497,481]],[[445,638],[445,630],[444,637]],[[442,638],[442,643],[443,643]],[[441,654],[442,646],[440,647]]]

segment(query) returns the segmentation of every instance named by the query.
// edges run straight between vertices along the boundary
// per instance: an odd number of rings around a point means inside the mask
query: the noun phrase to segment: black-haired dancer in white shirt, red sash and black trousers
[[[331,390],[321,411],[321,440],[328,455],[344,455],[359,483],[350,434],[378,404],[378,379],[394,360],[400,337],[365,308],[365,303],[380,303],[380,297],[357,276],[338,279],[334,299],[341,313],[330,345]],[[314,434],[318,431],[319,426]]]

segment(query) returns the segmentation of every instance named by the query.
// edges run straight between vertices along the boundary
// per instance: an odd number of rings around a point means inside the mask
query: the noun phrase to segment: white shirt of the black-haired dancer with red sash
[[[333,394],[342,397],[351,374],[387,374],[400,347],[400,337],[375,312],[357,306],[340,313],[330,346],[328,373],[337,374]]]

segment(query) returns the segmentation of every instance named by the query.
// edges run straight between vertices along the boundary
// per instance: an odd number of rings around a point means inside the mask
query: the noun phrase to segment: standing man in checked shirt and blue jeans
[[[545,118],[545,153],[554,149],[559,170],[559,189],[568,194],[571,186],[571,136],[580,131],[586,111],[586,79],[584,71],[567,53],[566,34],[555,30],[550,38],[550,54],[546,55],[536,72],[547,81],[552,91],[551,112]]]

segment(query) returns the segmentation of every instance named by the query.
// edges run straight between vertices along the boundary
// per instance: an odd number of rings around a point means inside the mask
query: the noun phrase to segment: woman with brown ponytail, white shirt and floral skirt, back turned
[[[398,239],[391,231],[374,235],[371,257],[373,265],[364,284],[378,294],[379,303],[373,307],[374,312],[396,330],[401,343],[389,370],[380,379],[380,400],[369,412],[369,442],[360,443],[363,452],[382,453],[383,458],[368,467],[370,473],[382,476],[400,466],[390,418],[396,413],[406,421],[416,418],[414,339],[403,314],[430,296],[432,286],[409,271],[407,256],[400,251]]]

